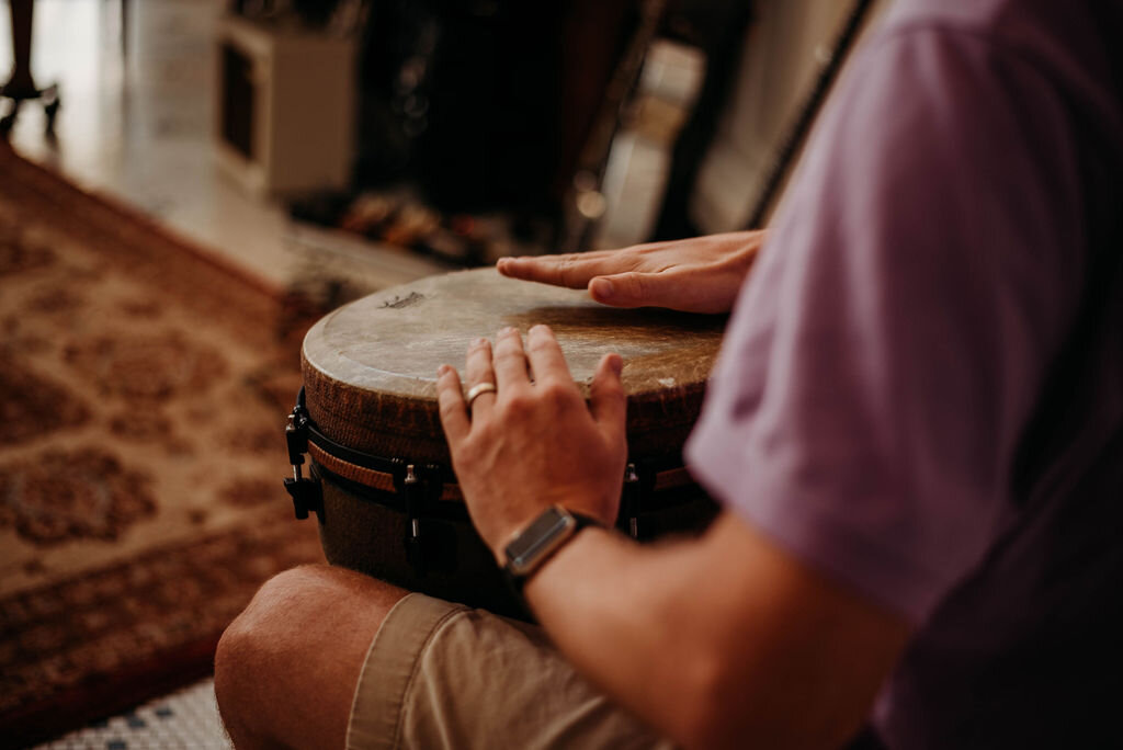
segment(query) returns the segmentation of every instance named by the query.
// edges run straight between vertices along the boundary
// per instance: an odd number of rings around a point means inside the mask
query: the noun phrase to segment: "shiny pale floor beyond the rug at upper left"
[[[124,39],[122,2],[129,3]],[[400,250],[296,226],[281,205],[247,195],[218,172],[212,29],[223,6],[36,0],[31,68],[40,86],[60,84],[57,139],[45,137],[43,111],[28,103],[12,145],[277,285],[321,260],[372,291],[439,271]],[[0,7],[0,61],[10,60],[8,9]]]

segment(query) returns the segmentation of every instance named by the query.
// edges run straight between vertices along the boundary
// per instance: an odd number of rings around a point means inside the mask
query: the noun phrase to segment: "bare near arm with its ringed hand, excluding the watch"
[[[550,503],[615,515],[627,457],[622,362],[606,355],[586,405],[545,327],[480,339],[468,413],[451,367],[441,424],[476,530],[496,559]],[[531,383],[530,373],[535,381]],[[527,596],[563,652],[621,704],[683,744],[837,747],[860,726],[907,626],[722,514],[701,539],[640,548],[577,534]]]

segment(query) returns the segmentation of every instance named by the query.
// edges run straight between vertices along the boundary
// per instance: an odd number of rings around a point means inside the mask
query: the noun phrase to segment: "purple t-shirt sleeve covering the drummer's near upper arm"
[[[914,622],[1015,514],[1084,278],[1077,144],[1031,61],[876,38],[816,128],[687,446],[783,547]]]

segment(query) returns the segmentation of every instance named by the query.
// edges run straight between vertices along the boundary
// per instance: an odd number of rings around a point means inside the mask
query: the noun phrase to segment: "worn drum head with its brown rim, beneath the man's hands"
[[[357,300],[308,332],[309,415],[356,450],[448,464],[437,412],[437,367],[464,372],[477,337],[550,326],[587,399],[602,356],[623,357],[633,458],[675,454],[697,419],[725,317],[618,310],[584,290],[514,281],[493,268],[423,278]]]

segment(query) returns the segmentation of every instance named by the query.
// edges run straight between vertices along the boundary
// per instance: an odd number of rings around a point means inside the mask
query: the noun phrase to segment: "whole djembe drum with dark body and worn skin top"
[[[462,368],[468,344],[547,323],[584,395],[601,357],[619,353],[628,397],[628,465],[619,528],[640,540],[690,533],[714,503],[682,447],[725,319],[619,310],[584,291],[467,271],[372,294],[304,338],[304,387],[286,430],[298,518],[314,512],[328,561],[411,591],[520,613],[476,536],[437,409],[436,373]],[[304,455],[311,476],[303,476]]]

